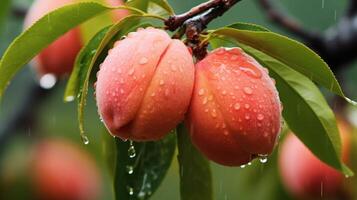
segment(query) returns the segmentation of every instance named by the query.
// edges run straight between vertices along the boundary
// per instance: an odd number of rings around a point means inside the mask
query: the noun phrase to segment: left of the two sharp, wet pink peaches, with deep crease
[[[96,83],[98,111],[113,136],[158,140],[184,118],[194,83],[186,46],[159,29],[116,42]]]

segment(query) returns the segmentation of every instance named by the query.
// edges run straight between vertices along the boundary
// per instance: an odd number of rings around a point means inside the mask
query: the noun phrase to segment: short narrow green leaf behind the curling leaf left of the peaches
[[[64,100],[73,101],[84,85],[85,75],[88,73],[88,66],[92,61],[97,48],[111,26],[99,31],[79,52],[71,76],[67,83]]]

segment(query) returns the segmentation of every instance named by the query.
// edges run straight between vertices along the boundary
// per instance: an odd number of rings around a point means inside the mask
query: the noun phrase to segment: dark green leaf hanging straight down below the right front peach
[[[209,161],[192,145],[185,125],[177,128],[180,192],[182,200],[213,199]]]

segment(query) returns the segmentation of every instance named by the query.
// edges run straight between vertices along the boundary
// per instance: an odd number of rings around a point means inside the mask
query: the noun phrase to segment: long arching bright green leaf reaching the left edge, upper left
[[[41,18],[18,36],[0,61],[0,98],[11,78],[42,49],[82,22],[104,13],[98,3],[78,3],[59,8]]]

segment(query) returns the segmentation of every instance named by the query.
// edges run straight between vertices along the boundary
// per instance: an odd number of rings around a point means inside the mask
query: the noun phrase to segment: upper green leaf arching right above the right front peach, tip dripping
[[[267,31],[257,25],[239,23],[211,31],[211,33],[227,36],[254,47],[357,105],[344,95],[327,64],[315,52],[295,40]]]

